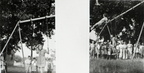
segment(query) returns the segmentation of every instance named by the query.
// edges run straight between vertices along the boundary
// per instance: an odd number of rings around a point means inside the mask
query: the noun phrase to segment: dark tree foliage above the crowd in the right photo
[[[99,0],[100,6],[95,5],[95,0],[90,0],[90,25],[94,25],[98,22],[104,13],[108,14],[108,19],[111,20],[112,18],[118,16],[119,14],[123,13],[124,11],[130,9],[134,5],[140,3],[141,1],[114,1],[114,0]],[[132,19],[135,21],[135,29],[132,31],[129,25],[132,25]],[[115,19],[114,21],[108,24],[111,34],[118,35],[122,29],[126,28],[126,33],[123,34],[123,40],[127,41],[128,39],[131,40],[133,43],[137,41],[139,36],[141,26],[144,22],[144,3],[140,6],[132,9],[128,13],[124,14],[123,16]],[[97,31],[100,32],[101,30],[97,28]],[[133,35],[132,35],[133,34]],[[110,39],[110,35],[108,33],[107,28],[104,29],[101,36],[104,36],[105,39]],[[143,35],[144,36],[144,32]],[[141,42],[144,42],[144,38],[141,37]]]

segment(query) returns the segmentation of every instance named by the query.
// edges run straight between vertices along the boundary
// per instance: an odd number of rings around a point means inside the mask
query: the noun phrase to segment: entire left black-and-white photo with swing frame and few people
[[[55,0],[0,0],[0,73],[56,73]]]

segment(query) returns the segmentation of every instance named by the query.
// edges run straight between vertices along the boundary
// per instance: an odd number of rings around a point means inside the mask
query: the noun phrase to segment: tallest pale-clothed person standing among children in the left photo
[[[44,67],[46,65],[45,54],[48,54],[48,51],[43,49],[43,44],[39,44],[39,48],[37,48],[37,53],[39,54],[37,58],[37,67],[40,73],[44,73]]]

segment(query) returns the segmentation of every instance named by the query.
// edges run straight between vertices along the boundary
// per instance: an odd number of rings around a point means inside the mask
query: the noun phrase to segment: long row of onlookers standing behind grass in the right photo
[[[130,41],[90,41],[90,57],[104,59],[144,58],[144,43],[132,44]]]

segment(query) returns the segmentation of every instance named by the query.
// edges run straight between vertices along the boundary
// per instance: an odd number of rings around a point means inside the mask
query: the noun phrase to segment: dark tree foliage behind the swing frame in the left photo
[[[1,0],[0,1],[0,39],[1,48],[10,36],[16,23],[19,20],[54,15],[55,7],[52,6],[54,0]],[[35,26],[35,27],[34,27]],[[20,24],[22,42],[27,46],[42,44],[45,34],[49,37],[53,35],[55,29],[55,18]],[[35,36],[33,36],[35,35]],[[2,40],[5,38],[5,40]],[[13,34],[8,44],[8,51],[16,49],[20,41],[18,28]]]

